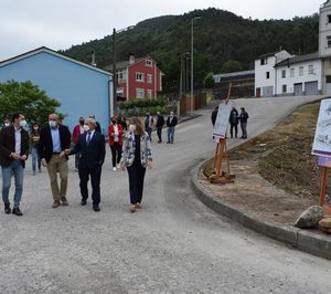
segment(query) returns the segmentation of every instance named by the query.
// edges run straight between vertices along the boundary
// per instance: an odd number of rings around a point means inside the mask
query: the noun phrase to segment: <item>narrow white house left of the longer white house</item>
[[[255,60],[255,96],[270,97],[277,95],[277,75],[275,65],[291,57],[287,51],[273,52]]]

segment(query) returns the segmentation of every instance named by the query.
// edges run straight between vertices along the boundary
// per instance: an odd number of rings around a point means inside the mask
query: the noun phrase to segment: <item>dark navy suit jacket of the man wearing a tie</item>
[[[78,137],[77,144],[71,150],[72,154],[81,153],[81,159],[78,168],[96,168],[102,166],[105,161],[106,148],[105,136],[98,132],[94,132],[94,135],[87,145],[86,136],[88,133],[84,133]]]

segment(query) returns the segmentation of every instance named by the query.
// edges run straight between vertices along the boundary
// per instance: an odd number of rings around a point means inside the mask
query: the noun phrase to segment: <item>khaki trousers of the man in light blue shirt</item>
[[[53,154],[51,160],[47,162],[47,171],[51,181],[51,189],[54,201],[58,201],[60,198],[66,196],[67,188],[67,160],[66,158],[60,158],[58,154]],[[57,183],[57,172],[60,174],[60,187]]]

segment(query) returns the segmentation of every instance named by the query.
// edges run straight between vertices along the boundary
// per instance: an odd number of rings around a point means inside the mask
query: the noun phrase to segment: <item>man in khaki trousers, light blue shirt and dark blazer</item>
[[[39,153],[42,165],[47,167],[53,195],[53,208],[67,206],[67,156],[65,149],[71,146],[71,132],[60,124],[57,114],[49,116],[49,126],[40,133]],[[60,174],[61,183],[57,183],[57,172]]]

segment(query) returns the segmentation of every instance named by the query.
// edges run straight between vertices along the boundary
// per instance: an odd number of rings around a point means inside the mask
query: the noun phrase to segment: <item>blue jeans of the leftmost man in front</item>
[[[10,203],[8,196],[9,189],[11,185],[11,176],[14,176],[15,182],[15,193],[14,193],[14,208],[20,207],[20,202],[22,199],[23,192],[23,172],[24,168],[22,166],[22,161],[20,159],[15,159],[11,162],[10,166],[3,167],[1,166],[2,170],[2,200],[3,203]]]

